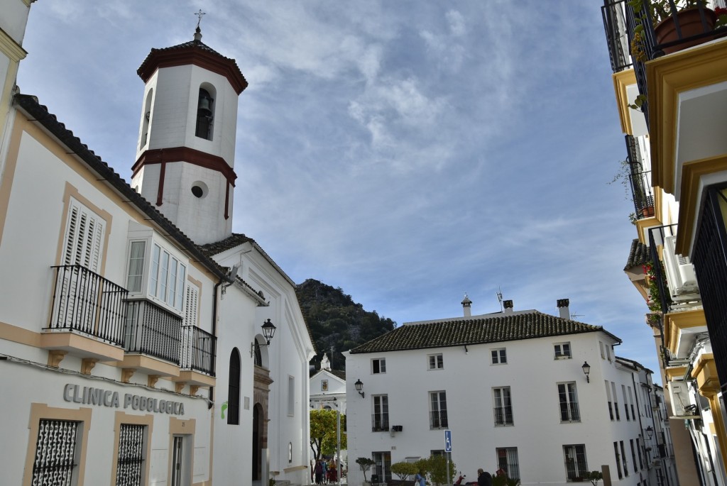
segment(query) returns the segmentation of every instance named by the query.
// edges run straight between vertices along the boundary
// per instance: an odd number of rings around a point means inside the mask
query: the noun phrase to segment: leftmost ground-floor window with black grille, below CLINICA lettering
[[[80,422],[41,418],[32,485],[71,486],[76,472]]]

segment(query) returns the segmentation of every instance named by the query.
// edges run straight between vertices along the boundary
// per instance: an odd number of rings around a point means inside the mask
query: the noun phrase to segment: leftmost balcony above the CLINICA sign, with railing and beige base
[[[81,265],[58,265],[41,347],[101,361],[124,356],[127,291]]]

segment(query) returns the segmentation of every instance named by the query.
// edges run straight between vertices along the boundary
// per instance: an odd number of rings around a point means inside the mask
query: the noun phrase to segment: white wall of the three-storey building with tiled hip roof
[[[554,344],[566,341],[572,358],[555,359]],[[629,440],[640,437],[642,424],[631,416],[627,420],[621,397],[622,384],[633,387],[632,374],[616,365],[612,351],[610,361],[601,358],[599,341],[609,347],[613,344],[606,334],[586,333],[468,345],[467,350],[446,347],[348,355],[350,484],[364,479],[354,458],[388,452],[394,463],[444,449],[443,430],[430,429],[428,422],[428,393],[440,390],[446,391],[451,458],[468,479],[480,467],[497,470],[497,447],[517,447],[523,485],[565,485],[563,445],[580,444],[585,445],[588,470],[609,465],[611,477],[618,479],[613,442],[624,441],[629,476],[614,484],[638,484],[640,475],[647,474],[646,465],[635,473]],[[507,350],[507,364],[491,364],[491,351],[501,347]],[[427,369],[427,355],[438,352],[443,355],[443,369]],[[371,359],[378,358],[385,358],[386,373],[371,373]],[[590,383],[581,368],[584,361],[591,367]],[[357,379],[364,382],[365,398],[353,387]],[[606,380],[614,381],[618,390],[619,421],[608,416]],[[576,384],[580,421],[561,423],[557,384],[563,382]],[[513,426],[494,425],[492,389],[500,386],[510,386]],[[377,394],[388,395],[389,424],[403,426],[402,432],[371,432],[371,398]]]

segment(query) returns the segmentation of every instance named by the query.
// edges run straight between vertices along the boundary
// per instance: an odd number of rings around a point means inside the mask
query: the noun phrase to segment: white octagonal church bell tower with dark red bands
[[[132,187],[198,245],[232,233],[238,96],[233,59],[193,41],[151,49]]]

